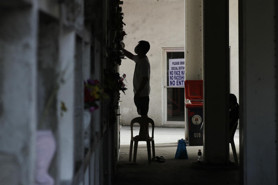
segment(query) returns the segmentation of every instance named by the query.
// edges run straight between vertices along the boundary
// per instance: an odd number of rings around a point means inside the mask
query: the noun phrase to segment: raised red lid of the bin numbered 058
[[[185,80],[184,93],[186,99],[203,99],[203,80]]]

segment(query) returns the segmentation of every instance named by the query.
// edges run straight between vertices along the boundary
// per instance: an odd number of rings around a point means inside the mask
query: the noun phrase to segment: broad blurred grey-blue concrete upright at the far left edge
[[[0,182],[32,185],[38,12],[36,1],[18,3],[0,3]]]

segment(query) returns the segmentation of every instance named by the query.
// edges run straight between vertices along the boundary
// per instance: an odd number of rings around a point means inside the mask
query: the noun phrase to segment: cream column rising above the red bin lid
[[[202,0],[185,0],[185,79],[203,79]]]

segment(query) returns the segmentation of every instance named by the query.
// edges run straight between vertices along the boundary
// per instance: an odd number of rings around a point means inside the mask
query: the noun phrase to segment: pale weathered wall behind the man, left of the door
[[[125,16],[125,49],[134,53],[140,40],[149,41],[151,48],[147,53],[151,64],[151,94],[149,117],[156,126],[162,126],[162,47],[184,47],[184,0],[125,0],[122,5]],[[135,63],[122,60],[120,74],[127,75],[127,88],[121,92],[120,123],[129,125],[138,117],[133,102],[133,72]]]

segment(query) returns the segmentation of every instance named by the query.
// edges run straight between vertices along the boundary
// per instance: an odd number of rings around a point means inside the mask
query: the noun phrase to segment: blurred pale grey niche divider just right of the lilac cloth
[[[58,155],[61,184],[70,184],[74,173],[74,51],[75,32],[63,29],[60,34],[59,64],[65,83],[57,94],[57,106],[65,103],[67,112],[58,109]],[[70,93],[69,93],[70,92]]]

